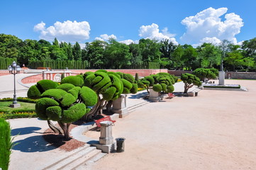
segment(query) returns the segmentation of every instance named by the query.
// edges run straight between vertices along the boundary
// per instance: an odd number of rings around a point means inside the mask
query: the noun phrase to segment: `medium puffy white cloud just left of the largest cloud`
[[[139,30],[139,36],[141,38],[148,38],[150,40],[171,40],[174,44],[178,44],[174,38],[174,34],[168,32],[168,28],[164,28],[162,33],[160,33],[159,27],[157,24],[152,23],[150,26],[141,26]]]

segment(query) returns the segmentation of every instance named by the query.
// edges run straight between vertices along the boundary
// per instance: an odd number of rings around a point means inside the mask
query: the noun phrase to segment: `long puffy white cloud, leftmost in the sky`
[[[54,40],[66,42],[81,42],[88,40],[90,34],[90,26],[87,21],[64,21],[63,23],[57,21],[53,26],[45,28],[43,21],[34,26],[34,30],[40,32],[40,39]]]

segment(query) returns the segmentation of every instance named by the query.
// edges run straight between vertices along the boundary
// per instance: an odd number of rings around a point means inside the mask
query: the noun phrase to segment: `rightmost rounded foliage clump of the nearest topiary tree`
[[[98,101],[96,93],[87,86],[83,86],[79,94],[86,106],[94,106]]]

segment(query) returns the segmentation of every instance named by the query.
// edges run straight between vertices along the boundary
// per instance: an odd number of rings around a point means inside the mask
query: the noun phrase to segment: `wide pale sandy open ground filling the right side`
[[[138,108],[113,126],[125,152],[84,169],[256,169],[256,81],[226,84],[249,91],[204,90]]]

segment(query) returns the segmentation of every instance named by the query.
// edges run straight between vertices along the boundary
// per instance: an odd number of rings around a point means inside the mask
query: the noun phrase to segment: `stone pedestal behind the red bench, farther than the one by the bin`
[[[113,101],[113,107],[111,111],[113,113],[118,113],[119,118],[123,118],[126,115],[128,115],[128,109],[126,106],[126,94],[121,94],[121,96],[116,99],[116,101]]]

